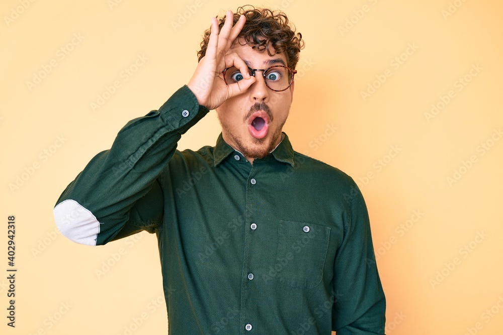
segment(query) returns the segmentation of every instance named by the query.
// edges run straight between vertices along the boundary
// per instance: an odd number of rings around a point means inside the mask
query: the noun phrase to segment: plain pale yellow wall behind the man
[[[52,208],[127,121],[188,82],[210,18],[244,3],[112,1],[0,4],[1,333],[124,334],[142,313],[133,334],[167,332],[155,236],[77,245],[57,233]],[[262,4],[284,10],[306,43],[285,125],[294,149],[361,185],[387,298],[387,334],[501,334],[503,4]],[[122,71],[134,69],[138,55],[148,59],[125,80]],[[28,83],[44,71],[40,83]],[[120,87],[93,110],[91,102],[115,81]],[[369,85],[378,88],[363,97]],[[433,117],[432,104],[443,106]],[[219,132],[212,111],[179,149],[214,145]],[[392,148],[398,154],[388,157]],[[18,177],[26,180],[11,189]],[[15,329],[6,325],[8,215],[17,225]]]

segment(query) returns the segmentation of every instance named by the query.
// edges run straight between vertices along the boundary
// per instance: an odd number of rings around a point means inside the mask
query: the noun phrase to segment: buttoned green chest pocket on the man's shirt
[[[276,264],[281,284],[311,288],[323,275],[330,228],[308,222],[280,220]]]

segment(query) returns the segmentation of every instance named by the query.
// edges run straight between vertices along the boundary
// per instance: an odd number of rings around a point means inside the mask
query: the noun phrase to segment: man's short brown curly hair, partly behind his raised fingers
[[[241,15],[245,16],[246,22],[237,38],[243,38],[246,44],[260,52],[267,50],[269,56],[285,52],[287,66],[295,69],[299,61],[300,50],[304,48],[304,41],[302,34],[295,33],[295,27],[290,27],[285,13],[266,8],[256,9],[254,6],[246,5],[239,7],[234,13],[233,25]],[[218,30],[220,31],[225,23],[225,15],[216,18],[219,21]],[[210,29],[204,32],[201,50],[197,52],[198,62],[206,54],[210,32]],[[270,44],[274,53],[269,47]]]

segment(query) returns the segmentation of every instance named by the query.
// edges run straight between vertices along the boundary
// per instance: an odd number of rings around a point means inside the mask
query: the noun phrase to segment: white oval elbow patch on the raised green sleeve
[[[93,213],[72,199],[64,200],[54,207],[54,220],[59,232],[67,239],[96,246],[100,222]]]

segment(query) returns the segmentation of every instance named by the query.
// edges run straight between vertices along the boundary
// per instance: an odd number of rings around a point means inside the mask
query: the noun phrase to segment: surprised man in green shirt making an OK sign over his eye
[[[219,21],[189,83],[68,185],[60,232],[87,245],[155,233],[171,334],[382,334],[362,194],[282,133],[302,36],[269,10]],[[210,109],[215,147],[176,150]]]

